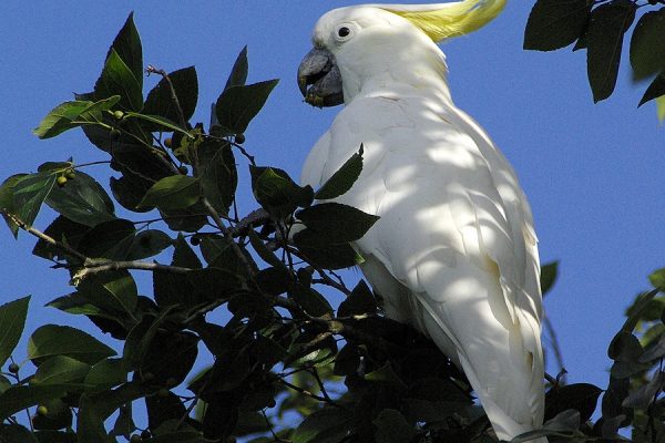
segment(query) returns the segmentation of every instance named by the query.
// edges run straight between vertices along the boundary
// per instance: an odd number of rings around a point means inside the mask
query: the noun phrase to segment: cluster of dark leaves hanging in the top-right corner
[[[612,95],[616,85],[625,34],[637,20],[631,38],[634,80],[656,79],[640,105],[665,95],[665,10],[648,10],[659,0],[641,4],[633,0],[536,0],[524,33],[524,49],[552,51],[570,45],[586,49],[587,75],[595,102]],[[651,7],[649,7],[651,6]],[[643,7],[643,8],[638,8]]]

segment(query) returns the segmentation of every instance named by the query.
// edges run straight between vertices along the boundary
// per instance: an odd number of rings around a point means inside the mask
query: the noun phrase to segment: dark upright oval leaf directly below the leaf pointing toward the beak
[[[204,196],[219,214],[228,214],[235,198],[238,175],[228,142],[208,138],[198,146],[198,169]]]

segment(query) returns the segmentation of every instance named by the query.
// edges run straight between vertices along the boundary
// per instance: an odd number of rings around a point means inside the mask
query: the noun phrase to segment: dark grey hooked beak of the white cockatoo
[[[342,104],[341,74],[335,55],[324,49],[309,51],[298,68],[298,87],[305,101],[313,106]]]

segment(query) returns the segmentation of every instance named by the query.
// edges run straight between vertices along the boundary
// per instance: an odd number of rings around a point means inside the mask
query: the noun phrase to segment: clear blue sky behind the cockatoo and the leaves
[[[71,93],[92,89],[109,45],[132,10],[144,63],[167,71],[196,66],[201,92],[195,120],[206,125],[208,103],[247,44],[249,80],[282,82],[250,125],[246,146],[259,163],[299,176],[310,146],[338,110],[304,104],[296,69],[310,48],[317,18],[349,3],[354,2],[4,0],[0,178],[70,155],[78,163],[106,159],[79,131],[42,142],[31,130],[53,106],[71,100]],[[532,3],[509,1],[498,20],[446,43],[443,51],[453,99],[492,135],[530,197],[542,261],[561,260],[560,280],[545,306],[569,380],[604,388],[606,346],[623,322],[623,311],[637,291],[648,288],[646,276],[665,266],[665,127],[658,127],[653,103],[636,109],[644,86],[632,85],[626,63],[615,95],[594,105],[584,52],[523,51]],[[149,79],[146,87],[156,81]],[[253,208],[246,200],[241,207]],[[52,217],[44,212],[35,226],[45,228]],[[49,262],[31,256],[33,244],[24,233],[17,243],[9,230],[0,229],[0,300],[33,296],[29,330],[44,322],[90,329],[86,321],[41,308],[71,288],[64,271],[51,270]],[[147,293],[150,286],[143,284],[142,289]]]

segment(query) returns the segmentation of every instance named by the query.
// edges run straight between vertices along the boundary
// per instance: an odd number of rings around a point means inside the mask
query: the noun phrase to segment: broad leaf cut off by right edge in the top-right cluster
[[[642,80],[665,70],[665,9],[642,16],[631,39],[633,80]]]

